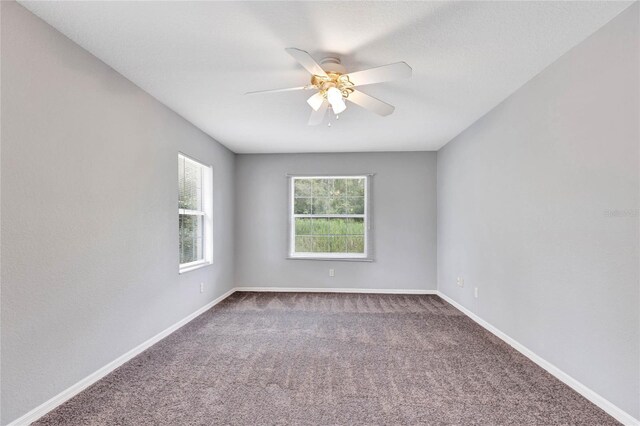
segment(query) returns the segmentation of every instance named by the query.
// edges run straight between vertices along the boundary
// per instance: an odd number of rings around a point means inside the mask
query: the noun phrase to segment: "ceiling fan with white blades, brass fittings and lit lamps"
[[[347,108],[345,100],[353,102],[378,115],[389,115],[395,109],[393,105],[382,102],[355,88],[367,84],[411,77],[411,67],[404,62],[395,62],[364,71],[347,73],[338,58],[328,57],[318,63],[304,50],[294,47],[289,47],[285,50],[311,73],[311,84],[287,89],[261,90],[258,92],[248,92],[246,94],[316,90],[316,93],[307,99],[307,103],[313,109],[311,117],[309,117],[310,126],[322,123],[329,108],[331,108],[336,115],[343,112]]]

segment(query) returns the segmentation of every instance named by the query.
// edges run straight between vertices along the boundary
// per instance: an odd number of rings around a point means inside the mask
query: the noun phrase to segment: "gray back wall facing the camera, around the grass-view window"
[[[287,173],[375,173],[374,262],[286,259]],[[236,285],[436,289],[434,152],[238,155],[236,188]]]

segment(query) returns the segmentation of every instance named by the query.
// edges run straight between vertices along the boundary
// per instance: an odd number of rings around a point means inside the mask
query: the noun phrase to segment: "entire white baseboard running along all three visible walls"
[[[217,305],[218,303],[220,303],[221,301],[223,301],[227,297],[231,296],[236,291],[241,291],[241,292],[242,291],[257,291],[257,292],[308,292],[308,293],[364,293],[364,294],[367,294],[367,293],[368,294],[436,294],[436,295],[440,296],[443,300],[445,300],[448,303],[450,303],[451,305],[453,305],[460,312],[462,312],[465,315],[467,315],[469,318],[471,318],[473,321],[478,323],[480,326],[484,327],[486,330],[488,330],[489,332],[493,333],[495,336],[497,336],[498,338],[502,339],[504,342],[509,344],[511,347],[516,349],[518,352],[520,352],[521,354],[523,354],[524,356],[529,358],[531,361],[535,362],[537,365],[539,365],[540,367],[542,367],[543,369],[548,371],[550,374],[552,374],[558,380],[560,380],[561,382],[565,383],[566,385],[571,387],[573,390],[578,392],[580,395],[584,396],[586,399],[591,401],[593,404],[595,404],[598,407],[600,407],[602,410],[604,410],[606,413],[608,413],[610,416],[612,416],[613,418],[615,418],[616,420],[618,420],[622,424],[624,424],[626,426],[640,426],[640,421],[638,419],[634,418],[633,416],[631,416],[630,414],[628,414],[624,410],[620,409],[619,407],[617,407],[616,405],[614,405],[613,403],[611,403],[607,399],[605,399],[602,396],[600,396],[598,393],[594,392],[593,390],[589,389],[588,387],[586,387],[585,385],[583,385],[582,383],[580,383],[579,381],[577,381],[573,377],[569,376],[568,374],[566,374],[565,372],[560,370],[555,365],[551,364],[550,362],[548,362],[545,359],[541,358],[540,356],[536,355],[533,351],[528,349],[526,346],[520,344],[516,340],[512,339],[511,337],[509,337],[507,334],[505,334],[502,331],[498,330],[493,325],[489,324],[488,322],[486,322],[485,320],[483,320],[482,318],[480,318],[479,316],[477,316],[476,314],[474,314],[470,310],[466,309],[464,306],[462,306],[459,303],[455,302],[453,299],[449,298],[447,295],[443,294],[442,292],[439,292],[437,290],[415,290],[415,289],[399,290],[399,289],[298,288],[298,287],[296,287],[296,288],[292,288],[292,287],[291,288],[290,287],[236,287],[236,288],[232,288],[231,290],[229,290],[228,292],[226,292],[222,296],[218,297],[214,301],[212,301],[210,303],[207,303],[205,306],[203,306],[202,308],[198,309],[194,313],[190,314],[186,318],[178,321],[177,323],[175,323],[171,327],[167,328],[166,330],[156,334],[155,336],[153,336],[149,340],[147,340],[144,343],[142,343],[142,344],[136,346],[135,348],[131,349],[129,352],[125,353],[124,355],[118,357],[114,361],[112,361],[109,364],[105,365],[104,367],[100,368],[96,372],[94,372],[94,373],[90,374],[89,376],[85,377],[84,379],[80,380],[79,382],[77,382],[73,386],[69,387],[68,389],[60,392],[58,395],[54,396],[53,398],[49,399],[45,403],[43,403],[43,404],[39,405],[38,407],[34,408],[33,410],[29,411],[28,413],[26,413],[25,415],[21,416],[20,418],[18,418],[16,420],[14,420],[13,422],[9,423],[7,426],[25,426],[25,425],[30,424],[31,422],[34,422],[34,421],[38,420],[40,417],[44,416],[49,411],[53,410],[54,408],[58,407],[62,403],[64,403],[67,400],[71,399],[73,396],[75,396],[78,393],[82,392],[84,389],[86,389],[87,387],[91,386],[92,384],[94,384],[98,380],[102,379],[104,376],[106,376],[107,374],[109,374],[110,372],[112,372],[113,370],[115,370],[116,368],[118,368],[119,366],[124,364],[125,362],[127,362],[130,359],[134,358],[136,355],[142,353],[144,350],[146,350],[150,346],[156,344],[160,340],[164,339],[165,337],[167,337],[168,335],[170,335],[174,331],[178,330],[180,327],[186,325],[191,320],[195,319],[197,316],[199,316],[200,314],[204,313],[205,311],[211,309],[213,306]]]

